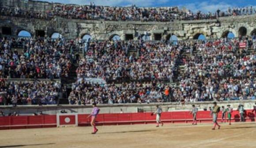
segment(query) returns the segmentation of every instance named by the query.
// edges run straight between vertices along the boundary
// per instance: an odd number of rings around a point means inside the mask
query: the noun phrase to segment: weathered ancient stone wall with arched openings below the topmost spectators
[[[4,1],[4,2],[3,2]],[[26,2],[27,1],[27,2]],[[41,11],[50,10],[52,3],[31,0],[0,0],[5,7],[26,7]],[[10,27],[11,35],[17,36],[19,31],[26,30],[32,36],[37,30],[51,36],[59,32],[65,39],[82,38],[89,34],[93,39],[106,40],[114,35],[125,40],[126,34],[132,34],[134,40],[147,31],[150,40],[155,40],[155,35],[161,35],[162,39],[169,40],[171,35],[176,35],[178,40],[197,39],[200,34],[207,39],[221,38],[233,32],[235,37],[239,35],[252,35],[256,32],[256,15],[222,17],[213,20],[174,21],[174,22],[116,22],[104,20],[79,20],[54,17],[50,20],[26,19],[17,17],[0,16],[0,28]],[[2,29],[0,29],[2,34]]]

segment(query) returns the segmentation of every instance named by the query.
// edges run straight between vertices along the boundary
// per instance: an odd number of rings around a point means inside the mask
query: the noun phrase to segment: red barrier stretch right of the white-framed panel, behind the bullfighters
[[[87,119],[88,115],[78,115],[79,126],[90,126],[90,119]],[[220,121],[222,112],[218,115]],[[151,116],[151,113],[119,113],[119,114],[99,114],[96,118],[96,124],[98,125],[120,125],[120,124],[147,124],[155,123],[156,116]],[[226,117],[227,118],[227,117]],[[231,116],[232,122],[240,121],[240,114],[238,111],[233,111]],[[245,112],[245,120],[247,122],[255,121],[255,114],[252,110]],[[191,123],[192,115],[189,112],[163,112],[161,120],[165,123]],[[212,117],[210,111],[199,111],[197,114],[197,120],[199,123],[211,123]]]

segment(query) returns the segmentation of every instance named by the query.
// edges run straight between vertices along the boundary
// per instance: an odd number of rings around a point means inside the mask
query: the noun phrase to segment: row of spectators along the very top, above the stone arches
[[[53,4],[47,11],[24,10],[20,7],[1,7],[0,15],[24,18],[51,19],[60,16],[68,19],[109,20],[109,21],[143,21],[170,22],[174,20],[215,19],[224,16],[256,14],[251,7],[233,7],[227,11],[217,9],[215,12],[192,12],[178,7],[104,7],[94,3],[90,5]]]

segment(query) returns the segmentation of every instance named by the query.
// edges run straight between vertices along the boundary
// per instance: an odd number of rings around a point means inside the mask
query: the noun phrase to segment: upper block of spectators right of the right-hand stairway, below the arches
[[[239,47],[240,42],[248,46]],[[256,54],[248,54],[248,49],[255,49],[256,42],[250,39],[219,39],[194,44],[188,47],[197,51],[194,56],[184,57],[183,79],[212,76],[253,76],[256,74]]]

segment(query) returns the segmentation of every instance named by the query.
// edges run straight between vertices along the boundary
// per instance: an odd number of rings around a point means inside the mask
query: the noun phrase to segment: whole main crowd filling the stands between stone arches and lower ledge
[[[246,43],[245,48],[240,48],[241,42]],[[23,50],[14,50],[20,44]],[[143,40],[0,38],[0,105],[56,104],[63,90],[60,83],[8,83],[3,78],[67,78],[72,59],[78,63],[78,80],[69,96],[66,94],[72,105],[254,100],[255,49],[254,37],[181,41],[175,45]],[[81,50],[84,58],[80,60],[71,54]],[[161,79],[173,79],[178,62],[184,63],[184,73],[178,75],[177,85],[161,83]],[[95,84],[84,78],[149,81]]]

